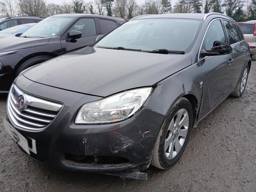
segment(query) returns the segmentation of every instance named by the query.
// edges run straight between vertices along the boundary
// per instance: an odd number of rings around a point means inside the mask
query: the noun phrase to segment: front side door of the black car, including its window
[[[68,34],[72,30],[82,32],[82,37],[76,40],[68,39]],[[71,28],[64,33],[60,39],[62,54],[86,47],[94,42],[98,34],[96,34],[96,26],[94,18],[81,18]]]

